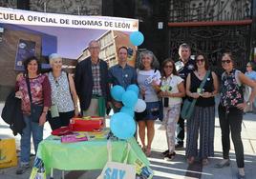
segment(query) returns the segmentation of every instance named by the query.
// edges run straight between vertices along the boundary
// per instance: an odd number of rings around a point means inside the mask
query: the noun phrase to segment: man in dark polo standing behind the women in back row
[[[191,49],[189,45],[185,43],[181,44],[179,48],[179,55],[180,55],[180,61],[183,64],[183,68],[181,70],[178,70],[178,72],[181,78],[184,80],[184,84],[185,84],[185,80],[188,73],[192,72],[195,69],[195,61],[190,58]],[[176,130],[177,130],[177,136],[176,136],[177,144],[175,145],[175,148],[181,149],[183,148],[183,140],[184,140],[184,119],[181,118],[181,116],[177,123]]]

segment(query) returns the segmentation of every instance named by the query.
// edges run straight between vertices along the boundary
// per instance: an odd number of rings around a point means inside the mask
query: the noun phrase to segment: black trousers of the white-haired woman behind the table
[[[75,116],[75,110],[68,112],[59,112],[59,117],[52,118],[51,112],[47,114],[47,120],[50,123],[51,129],[59,129],[60,127],[69,126],[70,119]]]

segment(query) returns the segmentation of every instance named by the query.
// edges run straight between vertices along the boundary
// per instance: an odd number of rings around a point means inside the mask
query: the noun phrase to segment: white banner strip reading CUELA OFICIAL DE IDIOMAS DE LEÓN
[[[0,23],[95,30],[139,30],[139,20],[107,16],[78,16],[0,8]]]

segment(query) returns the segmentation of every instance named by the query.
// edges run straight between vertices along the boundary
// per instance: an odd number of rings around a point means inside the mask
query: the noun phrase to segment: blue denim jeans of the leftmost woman
[[[32,122],[32,119],[28,115],[23,115],[26,128],[23,129],[23,135],[20,140],[20,162],[21,164],[27,164],[30,162],[31,157],[31,136],[35,153],[38,148],[38,144],[43,140],[43,126],[39,126],[38,123]]]

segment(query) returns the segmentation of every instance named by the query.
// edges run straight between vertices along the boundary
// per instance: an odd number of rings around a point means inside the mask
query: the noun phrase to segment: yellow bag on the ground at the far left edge
[[[0,139],[0,169],[17,166],[15,139]]]

